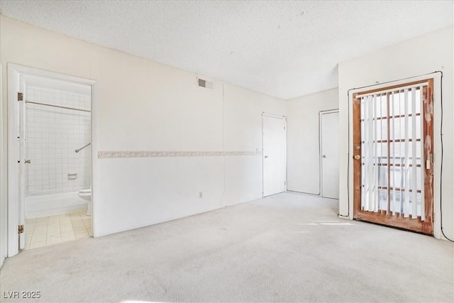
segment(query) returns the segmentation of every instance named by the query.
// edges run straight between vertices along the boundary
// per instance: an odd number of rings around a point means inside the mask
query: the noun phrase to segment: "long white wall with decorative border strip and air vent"
[[[94,162],[95,236],[261,197],[261,114],[284,115],[284,101],[217,81],[204,89],[190,72],[4,16],[0,22],[5,86],[7,62],[96,80],[95,152],[106,153]],[[5,90],[2,106],[5,118]],[[125,158],[135,150],[148,156]]]

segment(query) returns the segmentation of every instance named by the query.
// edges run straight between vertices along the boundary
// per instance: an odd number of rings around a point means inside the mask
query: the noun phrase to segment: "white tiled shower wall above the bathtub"
[[[91,109],[89,94],[28,86],[25,99],[44,104]],[[89,187],[91,153],[74,150],[92,141],[91,113],[26,104],[26,194],[70,192]],[[77,174],[74,175],[74,174]]]

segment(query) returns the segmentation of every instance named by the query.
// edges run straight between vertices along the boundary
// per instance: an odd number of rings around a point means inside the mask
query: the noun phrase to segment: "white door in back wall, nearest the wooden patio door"
[[[320,113],[321,196],[339,199],[339,112]]]

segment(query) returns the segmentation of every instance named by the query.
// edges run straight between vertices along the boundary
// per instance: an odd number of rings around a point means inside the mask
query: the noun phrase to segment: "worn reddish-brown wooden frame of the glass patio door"
[[[378,211],[372,213],[370,211],[361,210],[361,161],[355,160],[355,155],[361,154],[361,111],[360,111],[360,94],[370,94],[374,92],[385,91],[388,89],[398,89],[399,87],[406,87],[409,85],[428,83],[427,93],[423,94],[423,104],[428,102],[429,112],[426,112],[426,106],[421,109],[421,116],[423,117],[424,127],[421,133],[423,138],[423,159],[422,165],[426,161],[430,162],[430,169],[424,170],[424,199],[425,199],[425,221],[413,218],[403,218],[402,216],[392,216],[389,211]],[[355,92],[353,94],[353,219],[370,221],[377,224],[387,226],[394,226],[398,228],[409,229],[411,231],[421,232],[433,235],[434,222],[433,222],[433,78],[421,79],[414,82],[406,82],[389,87],[381,87],[380,89],[369,89],[362,92]],[[430,134],[430,136],[429,136]],[[422,140],[421,140],[422,142]],[[358,149],[355,146],[359,146]],[[421,210],[422,211],[422,210]]]

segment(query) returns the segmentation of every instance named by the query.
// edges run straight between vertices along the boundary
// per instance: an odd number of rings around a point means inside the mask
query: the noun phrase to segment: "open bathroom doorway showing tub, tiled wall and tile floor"
[[[8,68],[11,256],[93,234],[94,82]]]

